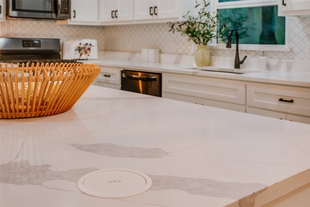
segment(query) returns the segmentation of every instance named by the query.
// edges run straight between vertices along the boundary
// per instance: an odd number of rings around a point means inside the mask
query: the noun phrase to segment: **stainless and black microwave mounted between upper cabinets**
[[[14,18],[68,19],[70,6],[70,0],[6,0],[6,14]]]

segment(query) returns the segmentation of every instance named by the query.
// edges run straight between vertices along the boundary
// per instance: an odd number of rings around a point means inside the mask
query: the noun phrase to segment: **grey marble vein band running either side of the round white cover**
[[[49,164],[32,165],[27,160],[13,161],[0,165],[0,182],[14,185],[41,185],[51,180],[66,180],[76,183],[85,174],[98,168],[72,169],[67,171],[50,170]],[[206,178],[189,178],[167,175],[149,175],[153,185],[150,190],[181,190],[190,194],[210,197],[240,198],[266,187],[259,183],[221,182]],[[100,182],[100,180],[98,180]],[[61,190],[61,189],[59,189]]]

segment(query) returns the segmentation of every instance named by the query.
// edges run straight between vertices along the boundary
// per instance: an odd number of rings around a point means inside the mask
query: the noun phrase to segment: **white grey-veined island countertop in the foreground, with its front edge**
[[[0,120],[0,207],[253,207],[310,183],[310,125],[91,85],[62,114]],[[99,169],[150,190],[81,193]]]

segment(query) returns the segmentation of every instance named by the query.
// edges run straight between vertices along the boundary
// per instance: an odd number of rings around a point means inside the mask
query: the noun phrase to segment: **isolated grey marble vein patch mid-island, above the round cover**
[[[118,158],[162,158],[169,155],[159,148],[125,147],[111,143],[72,144],[76,149],[92,152],[98,155]]]

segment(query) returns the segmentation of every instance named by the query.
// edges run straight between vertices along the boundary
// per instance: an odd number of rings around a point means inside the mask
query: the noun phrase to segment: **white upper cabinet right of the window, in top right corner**
[[[278,15],[310,15],[310,0],[279,0]]]

